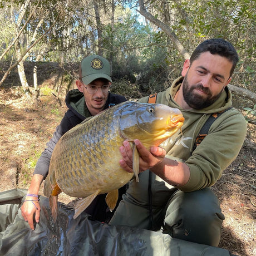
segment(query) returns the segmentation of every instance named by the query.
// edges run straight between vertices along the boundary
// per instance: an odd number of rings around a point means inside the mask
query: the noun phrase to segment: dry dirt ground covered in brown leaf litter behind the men
[[[36,161],[65,111],[51,93],[41,95],[35,107],[20,88],[0,88],[0,191],[28,188]],[[248,133],[253,132],[250,126]],[[213,187],[225,215],[219,247],[240,256],[256,255],[255,161],[254,134]]]

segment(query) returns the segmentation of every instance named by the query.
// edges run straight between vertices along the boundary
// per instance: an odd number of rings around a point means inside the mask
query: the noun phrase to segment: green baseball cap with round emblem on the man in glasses
[[[106,78],[112,82],[110,75],[109,61],[99,55],[87,56],[80,63],[79,78],[85,85],[89,85],[97,78]]]

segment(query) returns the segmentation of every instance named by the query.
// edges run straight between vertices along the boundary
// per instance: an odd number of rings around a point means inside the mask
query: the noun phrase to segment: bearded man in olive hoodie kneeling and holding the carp
[[[247,131],[242,114],[231,108],[232,94],[227,87],[237,62],[237,52],[229,42],[206,40],[184,62],[182,76],[157,93],[156,103],[183,113],[182,131],[150,151],[135,140],[140,182],[131,182],[111,225],[150,229],[218,247],[224,215],[210,186],[237,157]],[[140,102],[149,102],[149,97]],[[194,149],[201,127],[209,116],[220,112],[223,114]],[[120,152],[120,165],[131,172],[129,142],[124,141]]]

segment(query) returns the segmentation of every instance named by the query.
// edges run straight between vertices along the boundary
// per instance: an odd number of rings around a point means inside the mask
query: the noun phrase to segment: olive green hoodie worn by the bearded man
[[[166,157],[185,162],[189,166],[190,179],[179,189],[194,191],[214,185],[222,171],[235,160],[245,139],[247,123],[234,108],[224,112],[213,122],[208,135],[193,151],[195,139],[205,121],[211,114],[231,107],[232,94],[226,87],[211,106],[201,110],[183,110],[174,101],[182,81],[183,77],[179,77],[166,91],[157,93],[156,103],[180,109],[185,118],[182,134],[177,132],[160,146],[166,150]],[[139,102],[147,102],[148,98],[144,97]]]

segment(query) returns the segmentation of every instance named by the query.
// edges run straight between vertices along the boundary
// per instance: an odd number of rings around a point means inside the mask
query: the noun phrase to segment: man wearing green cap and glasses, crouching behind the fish
[[[124,96],[109,92],[111,82],[109,61],[99,55],[83,58],[79,68],[79,79],[76,80],[77,89],[67,93],[66,105],[68,110],[60,125],[56,127],[52,139],[46,144],[45,151],[42,152],[37,161],[31,185],[27,191],[26,201],[21,207],[22,216],[25,221],[28,221],[32,230],[34,230],[33,215],[35,214],[37,223],[40,219],[41,208],[37,200],[38,193],[43,179],[48,174],[52,151],[57,141],[63,134],[80,124],[87,117],[95,116],[104,109],[126,101]],[[122,191],[120,194],[122,194]],[[105,221],[105,218],[111,217],[107,215],[109,213],[107,213],[104,195],[97,196],[86,209],[86,212],[99,221]]]

